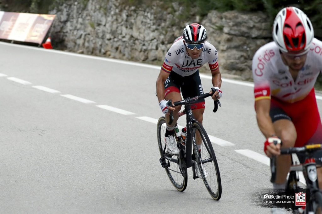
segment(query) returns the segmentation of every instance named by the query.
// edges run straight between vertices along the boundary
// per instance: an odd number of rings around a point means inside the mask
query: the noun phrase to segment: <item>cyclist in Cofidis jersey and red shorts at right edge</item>
[[[314,38],[307,15],[296,7],[279,11],[272,35],[274,42],[255,53],[252,72],[257,123],[267,138],[264,152],[269,157],[278,156],[273,188],[284,189],[291,157],[279,156],[280,148],[322,143],[313,88],[322,70],[322,42]],[[317,165],[322,164],[321,157],[321,152],[315,154]],[[298,158],[304,162],[304,156]],[[322,169],[317,171],[321,188]]]

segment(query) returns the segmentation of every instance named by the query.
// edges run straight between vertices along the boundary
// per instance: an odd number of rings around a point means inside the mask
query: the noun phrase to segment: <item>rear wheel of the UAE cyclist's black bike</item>
[[[165,134],[166,134],[166,119],[165,117],[160,117],[157,123],[157,138],[158,138],[158,145],[161,158],[165,158],[164,161],[168,166],[164,167],[166,170],[166,174],[168,175],[171,183],[178,191],[185,191],[188,183],[188,177],[183,176],[180,167],[179,167],[179,155],[171,155],[165,153],[166,148],[166,141],[165,141]],[[176,139],[176,137],[175,137]],[[171,161],[173,160],[173,161]],[[185,168],[185,172],[187,169]]]

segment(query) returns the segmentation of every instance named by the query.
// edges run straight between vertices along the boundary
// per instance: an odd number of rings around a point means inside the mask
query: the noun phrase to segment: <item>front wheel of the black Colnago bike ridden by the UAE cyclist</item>
[[[202,143],[200,151],[195,151],[195,153],[198,152],[200,155],[201,162],[200,160],[197,161],[199,169],[203,169],[203,167],[205,169],[205,171],[200,170],[204,185],[211,197],[214,200],[219,200],[222,194],[222,185],[217,159],[209,137],[204,130],[204,127],[199,122],[194,122],[193,124],[193,136],[197,143],[200,143],[200,141]],[[195,147],[194,150],[196,150]],[[197,159],[198,158],[196,158],[196,160]]]

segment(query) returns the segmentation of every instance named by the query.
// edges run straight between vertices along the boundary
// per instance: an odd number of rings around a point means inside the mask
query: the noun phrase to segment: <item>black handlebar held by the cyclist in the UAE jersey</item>
[[[211,88],[211,90],[212,90],[213,93],[215,93],[218,89]],[[183,100],[174,102],[173,103],[174,105],[172,105],[172,100],[170,99],[170,100],[168,100],[168,106],[175,107],[175,106],[179,106],[179,105],[189,105],[189,104],[191,104],[195,100],[199,100],[199,99],[203,99],[203,98],[210,97],[210,96],[213,95],[213,93],[212,94],[206,93],[206,94],[199,95],[197,97],[185,98]],[[216,98],[217,98],[217,100],[213,100],[213,105],[214,105],[213,112],[216,112],[217,111],[218,105],[221,107],[221,103],[220,103],[219,98],[218,98],[217,95],[216,95]],[[173,120],[174,120],[173,112],[171,111],[170,112],[169,125],[172,124]]]

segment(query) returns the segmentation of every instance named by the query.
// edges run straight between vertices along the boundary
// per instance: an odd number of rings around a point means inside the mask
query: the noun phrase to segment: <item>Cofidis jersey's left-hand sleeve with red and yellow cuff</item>
[[[254,79],[255,101],[260,99],[270,99],[269,69],[261,60],[257,51],[252,60],[251,70]]]

